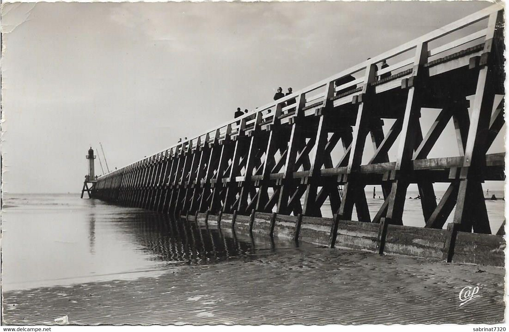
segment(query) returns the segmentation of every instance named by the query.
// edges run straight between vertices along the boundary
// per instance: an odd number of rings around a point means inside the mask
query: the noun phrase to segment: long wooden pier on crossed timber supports
[[[503,229],[490,228],[482,188],[505,178],[505,154],[487,154],[504,124],[503,49],[493,5],[101,176],[91,195],[329,247],[503,265]],[[429,108],[440,111],[423,132]],[[459,154],[428,158],[449,121]],[[448,184],[438,202],[435,183]],[[422,228],[403,220],[410,184]],[[370,216],[373,185],[384,201]]]

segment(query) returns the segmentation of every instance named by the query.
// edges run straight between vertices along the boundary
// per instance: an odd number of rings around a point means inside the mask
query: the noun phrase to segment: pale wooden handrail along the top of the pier
[[[149,162],[153,162],[153,160],[151,160],[151,158],[153,156],[156,156],[158,154],[162,154],[164,153],[164,156],[165,158],[167,158],[168,156],[168,152],[169,152],[169,155],[170,156],[176,156],[177,154],[180,154],[182,153],[182,148],[185,147],[187,149],[187,147],[189,146],[189,143],[192,142],[193,144],[193,148],[195,148],[196,146],[198,146],[198,144],[194,143],[194,140],[197,140],[199,137],[202,137],[205,135],[205,138],[206,138],[206,135],[207,134],[211,134],[210,137],[211,139],[213,139],[212,137],[215,136],[215,135],[212,135],[214,134],[217,130],[226,130],[228,126],[231,127],[231,129],[235,129],[237,130],[237,125],[236,123],[237,122],[240,122],[242,121],[243,119],[246,119],[246,125],[247,123],[251,124],[251,123],[254,123],[254,121],[256,121],[256,114],[258,112],[264,112],[264,111],[267,111],[268,109],[272,109],[272,113],[269,113],[269,114],[263,114],[262,115],[262,119],[265,119],[265,118],[268,118],[268,117],[271,117],[271,116],[274,116],[275,115],[275,108],[277,108],[277,105],[278,104],[281,104],[281,103],[286,103],[288,100],[290,99],[298,99],[299,96],[302,95],[302,98],[304,98],[304,95],[308,92],[312,92],[313,90],[316,90],[320,87],[324,87],[324,86],[327,86],[329,83],[331,82],[334,82],[335,80],[337,79],[340,79],[340,78],[343,78],[345,76],[348,76],[348,75],[352,75],[352,74],[355,74],[355,73],[358,73],[362,70],[365,70],[367,68],[367,66],[370,66],[372,64],[377,64],[377,63],[380,63],[381,61],[384,61],[388,58],[392,58],[392,57],[395,57],[395,56],[398,56],[402,53],[405,53],[415,47],[417,47],[418,45],[420,45],[421,43],[429,43],[431,41],[434,41],[438,38],[441,38],[443,36],[446,36],[450,33],[453,33],[455,31],[458,31],[459,29],[461,28],[464,28],[466,26],[469,26],[469,25],[472,25],[480,20],[483,20],[487,17],[490,16],[490,14],[492,13],[495,13],[495,12],[498,12],[500,10],[503,10],[503,6],[500,5],[500,4],[495,4],[495,5],[492,5],[490,7],[487,7],[483,10],[480,10],[478,12],[475,12],[471,15],[468,15],[464,18],[461,18],[457,21],[454,21],[452,23],[449,23],[441,28],[438,28],[426,35],[423,35],[421,37],[418,37],[418,38],[415,38],[407,43],[404,43],[398,47],[395,47],[395,48],[392,48],[384,53],[381,53],[377,56],[374,56],[373,58],[371,59],[368,59],[364,62],[361,62],[357,65],[354,65],[346,70],[343,70],[337,74],[334,74],[332,76],[329,76],[319,82],[316,82],[314,84],[311,84],[311,85],[308,85],[300,90],[298,90],[297,92],[291,94],[291,95],[288,95],[288,96],[285,96],[281,99],[278,99],[277,101],[271,101],[255,110],[252,110],[246,114],[243,114],[242,116],[239,116],[239,117],[236,117],[234,119],[230,119],[228,120],[227,122],[219,125],[219,126],[215,126],[207,131],[205,131],[203,134],[200,134],[196,137],[193,137],[193,138],[189,138],[187,139],[186,141],[182,141],[182,142],[179,142],[179,143],[176,143],[168,148],[165,148],[163,150],[160,150],[159,152],[156,152],[154,154],[151,154],[150,157],[144,157],[143,159],[140,159],[140,160],[137,160],[135,162],[132,162],[120,169],[117,169],[115,171],[112,171],[110,173],[107,173],[105,175],[103,175],[102,177],[108,177],[109,175],[112,175],[112,174],[116,174],[120,171],[123,171],[126,167],[128,166],[131,166],[131,165],[135,165],[137,163],[141,163],[141,164],[146,164],[146,163],[149,163]],[[468,36],[465,36],[465,37],[462,37],[462,38],[459,38],[459,39],[456,39],[454,40],[453,42],[449,42],[445,45],[442,45],[442,46],[438,46],[430,51],[428,51],[428,57],[429,56],[433,56],[433,55],[436,55],[436,54],[439,54],[441,52],[444,52],[444,51],[447,51],[451,48],[455,48],[455,47],[458,47],[458,46],[461,46],[461,45],[464,45],[468,42],[471,42],[475,39],[478,39],[478,38],[481,38],[481,37],[484,37],[486,36],[486,33],[487,33],[487,28],[484,28],[480,31],[477,31],[475,33],[472,33]],[[396,64],[393,64],[392,66],[389,66],[388,68],[384,68],[384,69],[381,69],[379,70],[376,75],[381,75],[383,73],[387,73],[387,72],[390,72],[391,70],[397,70],[399,68],[402,68],[402,67],[405,67],[405,66],[408,66],[408,65],[411,65],[413,64],[413,56],[411,56],[411,58],[409,59],[405,59],[403,61],[400,61],[399,63],[396,63]],[[353,86],[353,85],[356,85],[356,84],[359,84],[359,83],[363,83],[364,82],[364,77],[361,77],[361,78],[358,78],[358,79],[355,79],[354,81],[351,81],[351,82],[348,82],[348,83],[345,83],[341,86],[336,86],[334,88],[334,91],[338,91],[338,90],[342,90],[344,88],[348,88],[350,86]],[[314,97],[316,98],[320,98],[320,96],[325,96],[325,92],[321,93],[321,94],[316,94]],[[284,109],[290,109],[292,107],[290,106],[293,106],[293,107],[296,107],[297,105],[296,104],[292,104],[292,105],[288,105],[286,108]],[[248,117],[253,117],[254,119],[247,119]],[[238,132],[238,130],[237,130]],[[221,136],[223,136],[224,134],[221,134]],[[207,144],[207,140],[204,139],[200,145],[202,144]]]

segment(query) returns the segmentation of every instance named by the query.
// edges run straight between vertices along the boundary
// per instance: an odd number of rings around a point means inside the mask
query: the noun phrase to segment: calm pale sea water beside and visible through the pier
[[[438,200],[443,192],[436,194]],[[491,194],[503,197],[503,192]],[[404,224],[423,227],[417,193],[407,196]],[[383,199],[367,198],[367,203],[373,217]],[[504,201],[486,200],[486,206],[495,233],[504,220]],[[324,204],[322,214],[330,217],[330,206]],[[453,216],[454,211],[447,222]],[[278,239],[255,245],[249,236],[188,227],[164,214],[79,194],[4,194],[1,230],[3,292],[157,277],[168,268],[312,247]]]

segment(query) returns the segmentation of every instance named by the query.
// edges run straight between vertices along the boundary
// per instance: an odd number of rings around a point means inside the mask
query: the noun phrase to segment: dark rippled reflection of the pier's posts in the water
[[[180,220],[166,215],[139,213],[132,217],[132,233],[153,259],[168,263],[201,264],[234,257],[275,252],[270,238],[255,238],[220,230],[205,223]],[[281,248],[294,248],[292,242],[282,242]]]

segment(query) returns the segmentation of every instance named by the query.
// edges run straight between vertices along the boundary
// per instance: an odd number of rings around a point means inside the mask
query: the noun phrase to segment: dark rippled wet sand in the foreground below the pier
[[[299,251],[299,250],[298,250]],[[316,248],[4,292],[4,324],[495,323],[503,268]],[[460,307],[459,293],[480,297]]]

